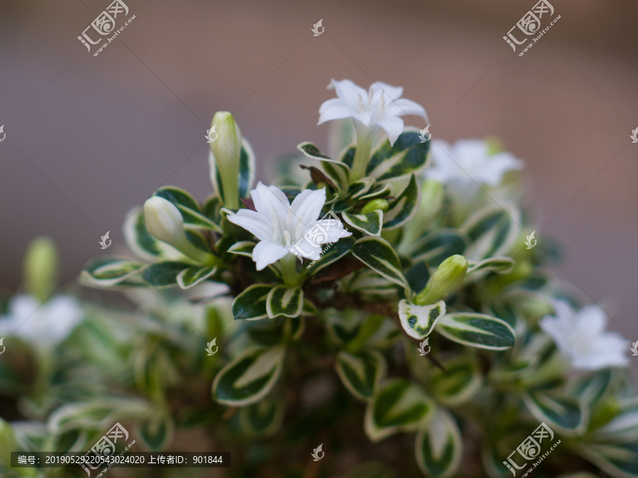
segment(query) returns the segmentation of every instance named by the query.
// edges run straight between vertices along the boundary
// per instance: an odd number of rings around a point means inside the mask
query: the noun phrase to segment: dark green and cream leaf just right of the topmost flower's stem
[[[393,146],[386,140],[373,152],[366,176],[384,181],[418,173],[427,166],[428,152],[430,142],[420,142],[419,133],[408,127],[399,135]]]

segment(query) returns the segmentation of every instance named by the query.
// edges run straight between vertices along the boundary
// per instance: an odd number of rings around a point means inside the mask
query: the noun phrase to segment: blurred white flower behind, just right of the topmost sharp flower
[[[481,140],[459,140],[452,145],[433,140],[432,166],[425,175],[443,184],[474,189],[476,184],[498,186],[503,174],[523,165],[508,152],[489,154],[488,144]]]

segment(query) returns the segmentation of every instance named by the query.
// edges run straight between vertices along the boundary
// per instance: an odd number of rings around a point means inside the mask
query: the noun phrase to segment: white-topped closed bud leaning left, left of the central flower
[[[184,219],[179,209],[169,200],[153,196],[144,203],[144,221],[146,230],[178,251],[186,254],[198,263],[213,263],[215,258],[201,249],[196,248],[186,239]]]

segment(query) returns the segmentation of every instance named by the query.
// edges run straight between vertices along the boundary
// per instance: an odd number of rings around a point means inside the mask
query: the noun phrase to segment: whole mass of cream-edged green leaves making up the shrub
[[[387,471],[364,467],[349,477],[408,476],[415,466],[430,477],[476,476],[477,467],[505,477],[508,455],[544,422],[561,445],[539,476],[600,469],[638,477],[638,401],[622,372],[571,377],[559,365],[538,321],[553,298],[578,297],[542,268],[543,246],[525,249],[514,201],[477,201],[459,222],[453,198],[422,178],[430,142],[410,129],[393,145],[376,144],[357,181],[353,144],[335,159],[310,143],[299,149],[310,176],[303,189],[326,188],[322,214],[334,212],[352,236],[296,266],[291,284],[281,263],[256,270],[256,241],[228,220],[218,171],[218,193],[203,204],[160,188],[155,195],[177,207],[191,246],[212,259],[159,241],[136,210],[125,236],[140,261],[101,258],[82,282],[133,291],[139,309],[94,307],[41,377],[57,387],[26,395],[46,427],[14,427],[18,448],[84,449],[111,422],[130,420],[150,450],[169,449],[176,429],[203,428],[218,450],[242,457],[234,472],[252,476],[301,476],[298,463],[307,465],[319,443],[334,476],[343,463],[333,456],[365,435],[394,440],[395,453],[378,457]],[[244,141],[237,191],[248,209],[253,170]],[[293,200],[302,188],[281,190]],[[222,284],[221,295],[195,301]],[[219,352],[207,356],[214,337]],[[6,387],[25,393],[20,377],[0,372]],[[332,376],[342,389],[331,388]]]

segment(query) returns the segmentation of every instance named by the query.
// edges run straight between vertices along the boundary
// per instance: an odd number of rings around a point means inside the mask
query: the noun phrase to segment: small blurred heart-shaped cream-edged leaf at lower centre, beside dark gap
[[[386,374],[386,360],[371,349],[352,355],[345,351],[337,354],[337,375],[350,393],[361,400],[371,399],[378,389],[379,380]]]

